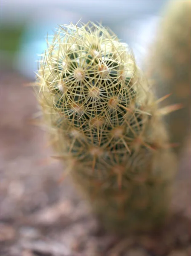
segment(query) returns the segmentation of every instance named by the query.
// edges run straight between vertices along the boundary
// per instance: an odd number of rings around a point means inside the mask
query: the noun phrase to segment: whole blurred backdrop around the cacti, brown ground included
[[[68,179],[58,183],[63,167],[50,160],[46,137],[38,123],[31,121],[39,110],[28,84],[35,79],[37,54],[46,48],[47,33],[51,35],[58,24],[76,23],[80,18],[84,23],[101,22],[130,45],[142,65],[166,2],[0,1],[1,256],[165,256],[175,246],[172,233],[179,239],[177,244],[185,244],[182,254],[177,245],[179,251],[172,255],[191,255],[189,179],[183,171],[189,169],[187,153],[177,183],[180,193],[173,203],[183,212],[181,219],[174,218],[161,237],[125,241],[128,250],[123,253],[120,239],[101,230],[72,183]]]

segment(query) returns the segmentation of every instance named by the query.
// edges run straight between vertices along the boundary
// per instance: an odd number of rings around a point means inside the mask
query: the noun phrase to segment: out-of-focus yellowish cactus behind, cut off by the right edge
[[[148,76],[158,97],[171,94],[164,104],[181,104],[182,108],[165,116],[170,140],[178,143],[179,154],[190,135],[191,109],[191,1],[169,1],[157,37],[151,48]],[[154,60],[154,61],[153,61]]]

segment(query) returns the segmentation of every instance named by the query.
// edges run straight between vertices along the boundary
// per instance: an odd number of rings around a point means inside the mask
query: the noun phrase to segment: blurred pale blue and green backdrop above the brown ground
[[[1,0],[1,67],[11,67],[30,79],[45,37],[58,24],[98,21],[109,26],[133,48],[139,61],[153,38],[166,0]]]

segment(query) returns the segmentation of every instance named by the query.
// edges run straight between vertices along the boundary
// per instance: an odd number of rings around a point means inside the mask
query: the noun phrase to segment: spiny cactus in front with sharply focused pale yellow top
[[[100,24],[60,26],[36,84],[55,158],[104,226],[126,233],[161,225],[176,158],[164,111],[127,44]]]

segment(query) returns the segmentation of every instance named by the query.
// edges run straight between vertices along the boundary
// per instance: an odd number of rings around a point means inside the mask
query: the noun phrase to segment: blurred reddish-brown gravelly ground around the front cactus
[[[104,231],[63,167],[49,161],[30,82],[14,72],[0,79],[1,256],[191,256],[190,151],[182,154],[174,216],[155,234],[119,237]],[[189,143],[188,143],[189,144]]]

